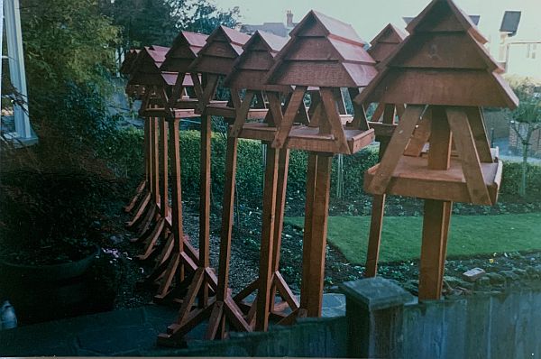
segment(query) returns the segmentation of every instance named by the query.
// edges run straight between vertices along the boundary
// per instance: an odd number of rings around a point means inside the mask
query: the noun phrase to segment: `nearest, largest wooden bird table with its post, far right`
[[[407,105],[364,187],[426,199],[419,298],[434,299],[441,295],[452,202],[493,205],[498,196],[502,164],[491,153],[480,107],[514,108],[518,98],[453,1],[434,0],[407,30],[355,101]]]

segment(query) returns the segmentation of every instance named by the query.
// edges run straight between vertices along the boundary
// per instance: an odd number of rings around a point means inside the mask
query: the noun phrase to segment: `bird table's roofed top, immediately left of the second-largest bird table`
[[[225,86],[231,89],[232,96],[237,96],[239,90],[246,90],[243,100],[239,97],[241,107],[236,114],[230,135],[263,141],[274,139],[276,124],[273,118],[281,117],[282,97],[290,95],[293,88],[268,85],[265,78],[274,64],[276,55],[287,41],[288,39],[269,32],[258,31],[244,44],[243,54],[235,60],[233,70],[225,78]],[[250,114],[251,111],[253,113],[256,109],[266,108],[269,108],[269,111],[260,114],[261,118],[264,117],[263,123],[246,124],[247,118],[255,118],[255,114]],[[280,114],[272,115],[276,111]]]

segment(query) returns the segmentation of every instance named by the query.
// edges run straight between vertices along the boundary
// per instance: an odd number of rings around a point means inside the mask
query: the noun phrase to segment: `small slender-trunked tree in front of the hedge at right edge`
[[[521,197],[526,196],[527,158],[532,134],[541,128],[541,98],[534,95],[534,85],[527,79],[513,88],[520,100],[511,112],[511,128],[522,144],[522,179],[518,188]]]

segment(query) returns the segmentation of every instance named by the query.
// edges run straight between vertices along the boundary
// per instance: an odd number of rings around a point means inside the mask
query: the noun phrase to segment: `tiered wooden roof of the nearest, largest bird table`
[[[452,0],[433,0],[408,25],[410,35],[355,99],[358,103],[443,106],[518,105],[481,33]]]

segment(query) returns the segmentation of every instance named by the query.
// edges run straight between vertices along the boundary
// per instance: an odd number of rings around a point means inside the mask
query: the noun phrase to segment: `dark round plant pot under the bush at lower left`
[[[0,260],[0,297],[9,299],[19,324],[96,311],[95,283],[86,273],[99,249],[74,262],[25,265]]]

